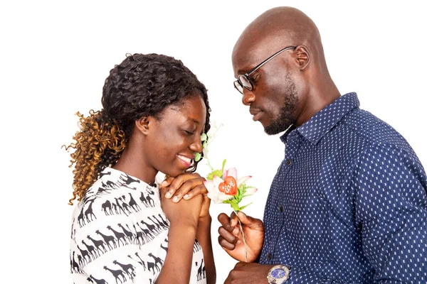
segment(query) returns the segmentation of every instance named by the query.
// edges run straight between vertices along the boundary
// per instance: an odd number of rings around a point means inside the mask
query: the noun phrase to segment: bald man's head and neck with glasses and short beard
[[[278,7],[255,18],[238,38],[232,60],[242,102],[268,134],[304,124],[340,95],[315,23],[295,8]]]

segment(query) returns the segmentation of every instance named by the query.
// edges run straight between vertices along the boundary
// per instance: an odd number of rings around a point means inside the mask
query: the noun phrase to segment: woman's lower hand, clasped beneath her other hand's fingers
[[[178,224],[179,226],[193,226],[197,228],[203,201],[201,195],[196,195],[191,200],[181,200],[181,202],[176,203],[165,197],[167,193],[165,187],[161,187],[159,192],[163,212],[167,219],[169,219],[169,222],[171,222],[171,226]]]

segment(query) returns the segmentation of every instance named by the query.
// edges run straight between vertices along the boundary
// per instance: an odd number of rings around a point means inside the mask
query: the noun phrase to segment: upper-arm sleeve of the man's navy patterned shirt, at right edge
[[[427,283],[427,186],[418,158],[372,146],[354,173],[355,220],[374,280]]]

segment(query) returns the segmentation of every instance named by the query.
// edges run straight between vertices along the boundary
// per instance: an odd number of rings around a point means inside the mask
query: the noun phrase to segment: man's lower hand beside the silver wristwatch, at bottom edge
[[[238,262],[224,284],[268,284],[268,271],[275,265]]]

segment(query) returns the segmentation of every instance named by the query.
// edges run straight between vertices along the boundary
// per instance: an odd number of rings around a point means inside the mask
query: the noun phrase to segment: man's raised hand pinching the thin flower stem
[[[248,245],[248,262],[253,262],[260,255],[264,242],[264,225],[260,219],[246,216],[243,212],[238,212],[241,220],[246,244]],[[245,261],[245,244],[238,224],[236,214],[231,213],[231,217],[221,213],[218,221],[222,226],[218,229],[218,243],[223,249],[237,261]]]

